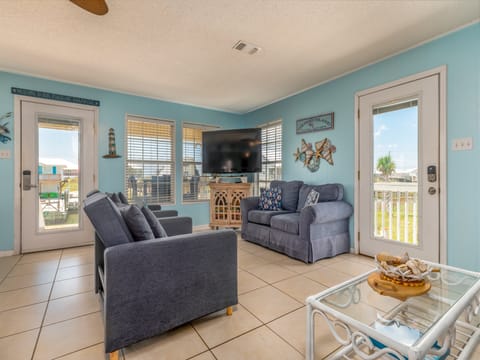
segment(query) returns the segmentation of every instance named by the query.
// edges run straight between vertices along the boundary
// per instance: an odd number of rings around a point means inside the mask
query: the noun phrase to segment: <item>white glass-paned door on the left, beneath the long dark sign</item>
[[[82,211],[96,185],[97,111],[21,100],[21,251],[91,243]]]

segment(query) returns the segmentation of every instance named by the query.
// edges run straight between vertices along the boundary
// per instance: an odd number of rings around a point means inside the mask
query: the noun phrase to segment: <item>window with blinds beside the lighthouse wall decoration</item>
[[[129,202],[175,203],[175,124],[127,117],[125,189]]]

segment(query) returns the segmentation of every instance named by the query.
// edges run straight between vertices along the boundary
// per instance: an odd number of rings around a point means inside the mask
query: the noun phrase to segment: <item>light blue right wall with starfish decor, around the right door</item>
[[[247,121],[255,126],[283,119],[284,179],[343,183],[346,199],[353,204],[355,93],[441,65],[447,65],[448,263],[480,270],[479,23],[247,114]],[[295,134],[297,119],[332,111],[334,130]],[[450,150],[454,138],[467,136],[473,137],[472,151]],[[334,166],[322,161],[320,170],[310,173],[294,162],[292,154],[301,138],[315,142],[323,137],[337,147]],[[350,225],[353,230],[353,219]]]

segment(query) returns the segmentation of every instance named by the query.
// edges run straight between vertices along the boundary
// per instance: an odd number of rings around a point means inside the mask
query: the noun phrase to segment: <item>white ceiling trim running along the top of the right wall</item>
[[[314,89],[314,88],[316,88],[317,86],[321,86],[321,85],[327,84],[327,83],[329,83],[329,82],[335,81],[335,80],[340,79],[340,78],[342,78],[342,77],[344,77],[344,76],[350,75],[350,74],[352,74],[352,73],[354,73],[354,72],[356,72],[356,71],[359,71],[359,70],[362,70],[362,69],[364,69],[364,68],[367,68],[367,67],[369,67],[369,66],[371,66],[371,65],[378,64],[378,63],[380,63],[380,62],[382,62],[382,61],[385,61],[385,60],[388,60],[388,59],[393,58],[393,57],[395,57],[395,56],[398,56],[398,55],[400,55],[400,54],[403,54],[403,53],[405,53],[405,52],[407,52],[407,51],[410,51],[410,50],[413,50],[413,49],[415,49],[415,48],[417,48],[417,47],[420,47],[420,46],[422,46],[422,45],[428,44],[429,42],[432,42],[432,41],[441,39],[441,38],[443,38],[443,37],[445,37],[445,36],[448,36],[448,35],[450,35],[450,34],[453,34],[453,33],[457,32],[457,31],[460,31],[460,30],[462,30],[462,29],[465,29],[465,28],[467,28],[467,27],[470,27],[470,26],[472,26],[472,25],[474,25],[474,24],[476,24],[476,23],[478,23],[478,22],[480,22],[480,20],[471,21],[471,22],[469,22],[468,24],[459,26],[459,27],[457,27],[457,28],[455,28],[455,29],[453,29],[453,30],[450,30],[450,31],[446,32],[446,33],[443,33],[443,34],[440,34],[440,35],[436,35],[436,36],[431,37],[431,38],[429,38],[429,39],[427,39],[427,40],[424,40],[424,41],[421,41],[421,42],[419,42],[419,43],[417,43],[417,44],[415,44],[415,45],[412,45],[412,46],[410,46],[410,47],[408,47],[408,48],[406,48],[406,49],[397,51],[397,52],[395,52],[395,53],[393,53],[393,54],[391,54],[391,55],[387,55],[387,56],[385,56],[385,57],[383,57],[383,58],[374,60],[374,61],[372,61],[372,62],[370,62],[370,63],[368,63],[368,64],[361,65],[361,66],[359,66],[359,67],[356,67],[356,68],[353,69],[353,70],[345,71],[345,72],[341,73],[340,75],[337,75],[337,76],[334,76],[334,77],[332,77],[332,78],[329,78],[328,80],[321,81],[321,82],[316,83],[315,85],[309,86],[309,87],[307,87],[307,88],[305,88],[305,89],[298,90],[298,91],[296,91],[296,92],[294,92],[294,93],[291,93],[291,94],[289,94],[289,95],[282,96],[282,97],[280,97],[280,98],[278,98],[278,99],[275,99],[275,100],[272,100],[272,101],[270,101],[270,102],[268,102],[268,103],[266,103],[266,104],[256,106],[256,107],[254,107],[254,108],[252,108],[252,109],[250,109],[250,110],[246,110],[245,112],[240,113],[240,114],[241,114],[241,115],[245,115],[245,114],[254,112],[254,111],[256,111],[256,110],[263,109],[264,107],[267,107],[267,106],[276,104],[277,102],[280,102],[280,101],[282,101],[282,100],[288,99],[288,98],[290,98],[290,97],[292,97],[292,96],[296,96],[296,95],[299,95],[299,94],[301,94],[301,93],[304,93],[305,91]]]

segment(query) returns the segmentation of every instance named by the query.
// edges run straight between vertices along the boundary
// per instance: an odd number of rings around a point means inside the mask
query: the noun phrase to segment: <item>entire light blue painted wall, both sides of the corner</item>
[[[101,101],[99,155],[107,151],[108,128],[115,128],[118,152],[123,154],[125,114],[153,116],[177,121],[177,174],[181,174],[181,122],[217,124],[223,128],[256,126],[283,119],[283,175],[310,183],[340,182],[346,199],[354,199],[354,96],[357,91],[402,77],[447,65],[448,140],[448,262],[480,270],[480,24],[449,34],[425,45],[368,66],[299,95],[240,116],[192,106],[129,96],[83,86],[0,72],[0,114],[13,111],[10,88],[20,87]],[[311,115],[335,112],[335,129],[304,135],[295,134],[295,121]],[[335,165],[322,161],[320,170],[310,173],[295,163],[293,153],[300,139],[314,142],[324,136],[336,145]],[[472,151],[452,152],[452,139],[473,137]],[[13,143],[0,144],[13,154]],[[13,158],[0,160],[0,250],[13,249]],[[123,189],[124,158],[99,159],[100,188]],[[181,178],[177,177],[175,208],[192,216],[194,224],[208,223],[207,204],[181,204]],[[353,222],[351,223],[353,230]],[[353,241],[352,241],[353,244]]]

